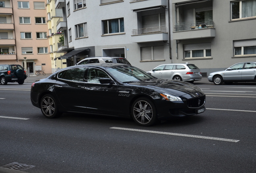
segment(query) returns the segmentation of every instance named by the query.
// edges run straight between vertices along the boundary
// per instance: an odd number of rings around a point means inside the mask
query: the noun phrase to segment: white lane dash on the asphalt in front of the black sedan
[[[148,130],[140,130],[140,129],[129,129],[129,128],[121,128],[121,127],[110,127],[110,129],[118,129],[118,130],[126,130],[126,131],[138,131],[138,132],[146,132],[146,133],[157,133],[163,135],[174,135],[174,136],[183,136],[183,137],[194,137],[201,139],[212,139],[218,141],[228,141],[228,142],[238,142],[240,140],[235,139],[225,139],[225,138],[217,138],[217,137],[206,137],[206,136],[198,136],[198,135],[186,135],[181,133],[169,133],[169,132],[161,132],[161,131],[148,131]]]

